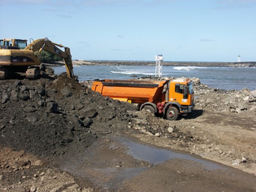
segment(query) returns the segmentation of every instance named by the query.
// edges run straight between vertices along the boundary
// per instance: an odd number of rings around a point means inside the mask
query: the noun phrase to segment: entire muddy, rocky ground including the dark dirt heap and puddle
[[[256,190],[255,91],[193,78],[195,111],[168,121],[43,70],[0,81],[0,191]]]

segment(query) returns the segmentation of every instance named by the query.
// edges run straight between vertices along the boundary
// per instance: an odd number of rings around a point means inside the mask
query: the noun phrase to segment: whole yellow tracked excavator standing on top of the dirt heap
[[[72,78],[73,64],[70,48],[53,43],[48,38],[37,39],[27,45],[23,39],[0,39],[0,79],[7,79],[11,73],[26,73],[27,79],[36,79],[40,73],[42,50],[64,58],[67,76]]]

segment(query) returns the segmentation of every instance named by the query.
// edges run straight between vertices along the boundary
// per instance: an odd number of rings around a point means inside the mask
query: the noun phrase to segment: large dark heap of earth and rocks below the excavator
[[[99,134],[128,129],[132,105],[66,76],[0,82],[0,143],[38,155],[82,151]],[[81,148],[79,148],[81,147]]]

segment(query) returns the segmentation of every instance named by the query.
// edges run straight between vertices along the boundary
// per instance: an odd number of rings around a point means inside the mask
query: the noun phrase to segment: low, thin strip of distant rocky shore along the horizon
[[[81,61],[73,60],[73,65],[148,65],[154,66],[155,61]],[[62,65],[63,62],[58,62]],[[189,62],[164,61],[163,66],[197,66],[197,67],[256,67],[256,61],[251,62]]]

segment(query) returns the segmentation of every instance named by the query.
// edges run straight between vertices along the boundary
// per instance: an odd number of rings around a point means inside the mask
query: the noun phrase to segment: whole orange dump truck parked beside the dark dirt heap
[[[139,104],[155,115],[175,120],[179,114],[186,115],[194,109],[192,81],[111,80],[94,81],[92,90],[113,99]]]

